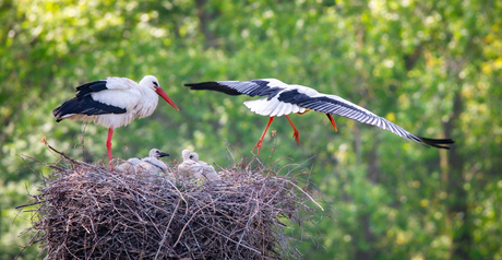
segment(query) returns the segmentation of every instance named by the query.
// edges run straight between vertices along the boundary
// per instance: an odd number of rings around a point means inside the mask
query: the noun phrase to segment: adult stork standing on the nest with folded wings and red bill
[[[108,128],[106,147],[112,168],[113,130],[129,125],[136,117],[144,118],[152,115],[157,107],[158,96],[179,110],[153,75],[144,76],[140,83],[127,78],[108,78],[77,86],[75,97],[53,109],[52,115],[57,122],[63,119],[94,121]]]

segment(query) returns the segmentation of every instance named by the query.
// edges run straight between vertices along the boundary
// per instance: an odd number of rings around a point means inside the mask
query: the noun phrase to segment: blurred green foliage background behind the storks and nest
[[[302,164],[333,199],[306,259],[502,259],[502,2],[446,0],[0,1],[0,259],[14,258],[47,168],[23,158],[106,161],[106,132],[56,123],[51,110],[85,82],[154,74],[180,107],[117,129],[113,155],[158,147],[180,158],[244,156],[266,118],[248,97],[190,92],[183,83],[277,78],[362,105],[405,129],[452,138],[426,149],[374,127],[322,114],[274,120],[260,157]],[[270,158],[270,156],[272,156]],[[316,155],[315,157],[308,159]],[[298,235],[298,238],[300,236]],[[34,259],[28,248],[21,259]]]

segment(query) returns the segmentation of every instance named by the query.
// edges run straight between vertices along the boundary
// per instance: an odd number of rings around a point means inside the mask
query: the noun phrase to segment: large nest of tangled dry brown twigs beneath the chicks
[[[46,259],[299,258],[284,227],[316,210],[295,180],[263,170],[187,184],[67,162],[27,204],[37,205],[28,246]]]

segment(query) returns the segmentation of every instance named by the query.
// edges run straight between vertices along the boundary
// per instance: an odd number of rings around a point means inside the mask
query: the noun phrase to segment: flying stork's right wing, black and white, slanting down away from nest
[[[450,149],[449,146],[444,146],[444,144],[454,143],[451,139],[428,139],[417,137],[387,119],[336,95],[318,94],[309,96],[298,92],[298,90],[290,90],[280,93],[277,99],[284,103],[297,104],[300,107],[309,108],[315,111],[338,115],[359,122],[372,125],[381,129],[389,130],[404,139],[439,149]]]

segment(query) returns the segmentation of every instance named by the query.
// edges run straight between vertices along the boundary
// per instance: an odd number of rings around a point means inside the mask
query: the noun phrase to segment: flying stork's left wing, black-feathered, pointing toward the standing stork
[[[189,83],[184,84],[190,90],[194,91],[217,91],[228,95],[241,95],[248,96],[265,96],[268,95],[268,99],[277,95],[284,87],[271,86],[270,81],[266,80],[252,80],[252,81],[207,81],[201,83]]]

